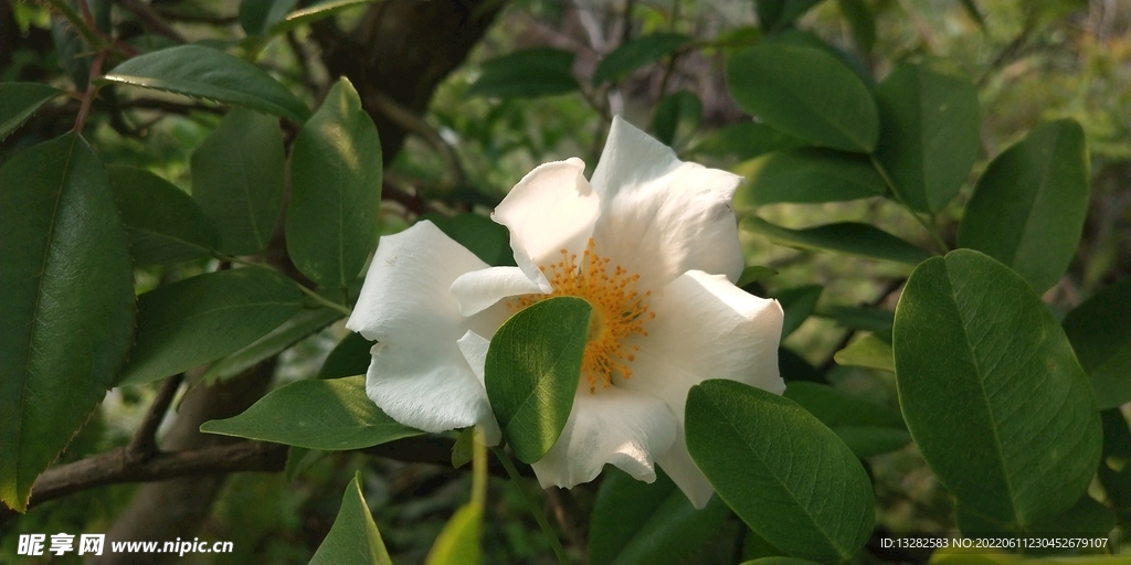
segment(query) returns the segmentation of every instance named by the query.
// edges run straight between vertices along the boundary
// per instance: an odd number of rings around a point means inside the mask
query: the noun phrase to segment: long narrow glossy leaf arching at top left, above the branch
[[[104,81],[244,106],[302,123],[310,108],[266,71],[200,45],[178,45],[119,64]]]

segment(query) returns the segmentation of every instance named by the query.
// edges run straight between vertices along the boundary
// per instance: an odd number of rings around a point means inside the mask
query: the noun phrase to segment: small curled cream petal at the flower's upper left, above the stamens
[[[561,250],[580,252],[593,234],[601,200],[578,158],[539,165],[495,208],[492,218],[510,229],[515,262],[530,280],[538,266],[556,263]]]

